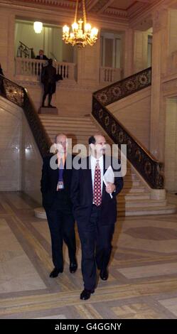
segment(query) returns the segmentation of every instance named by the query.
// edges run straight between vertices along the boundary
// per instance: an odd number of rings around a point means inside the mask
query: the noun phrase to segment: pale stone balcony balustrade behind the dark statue
[[[18,57],[15,60],[15,64],[16,76],[27,77],[29,80],[40,81],[42,68],[47,65],[47,61]],[[63,80],[75,80],[74,63],[59,63],[53,61],[53,66],[56,68],[57,74],[62,75]]]

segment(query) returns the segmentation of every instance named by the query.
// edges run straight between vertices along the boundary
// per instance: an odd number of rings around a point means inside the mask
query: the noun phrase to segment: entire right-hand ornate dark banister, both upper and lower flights
[[[150,187],[163,189],[163,163],[157,161],[105,107],[149,85],[151,85],[151,68],[93,93],[92,115],[115,144],[127,145],[128,160]]]

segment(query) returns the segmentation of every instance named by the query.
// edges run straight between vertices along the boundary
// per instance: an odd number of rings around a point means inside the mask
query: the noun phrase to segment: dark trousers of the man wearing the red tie
[[[78,225],[82,247],[82,276],[85,289],[95,289],[97,268],[107,269],[111,251],[114,224],[100,225],[100,208],[92,205],[87,227]]]

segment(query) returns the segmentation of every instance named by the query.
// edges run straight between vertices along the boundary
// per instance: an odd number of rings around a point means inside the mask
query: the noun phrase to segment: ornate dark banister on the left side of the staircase
[[[51,141],[25,88],[0,75],[0,95],[23,109],[41,156],[47,156]]]

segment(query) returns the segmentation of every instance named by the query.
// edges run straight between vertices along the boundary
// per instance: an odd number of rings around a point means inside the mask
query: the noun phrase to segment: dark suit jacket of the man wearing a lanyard
[[[55,197],[57,195],[57,184],[58,184],[58,168],[53,169],[50,167],[50,158],[53,157],[47,156],[43,158],[43,170],[42,170],[42,178],[41,178],[41,193],[43,196],[43,208],[45,210],[48,210],[52,207],[53,202],[55,200]],[[72,159],[74,156],[70,156],[68,154],[67,159]],[[57,159],[55,161],[57,163]],[[65,196],[67,197],[67,204],[68,208],[72,208],[72,203],[70,200],[70,185],[71,185],[71,180],[72,180],[72,169],[66,169],[66,161],[65,161],[65,166],[64,166],[64,171],[63,171],[63,183],[65,190]]]

